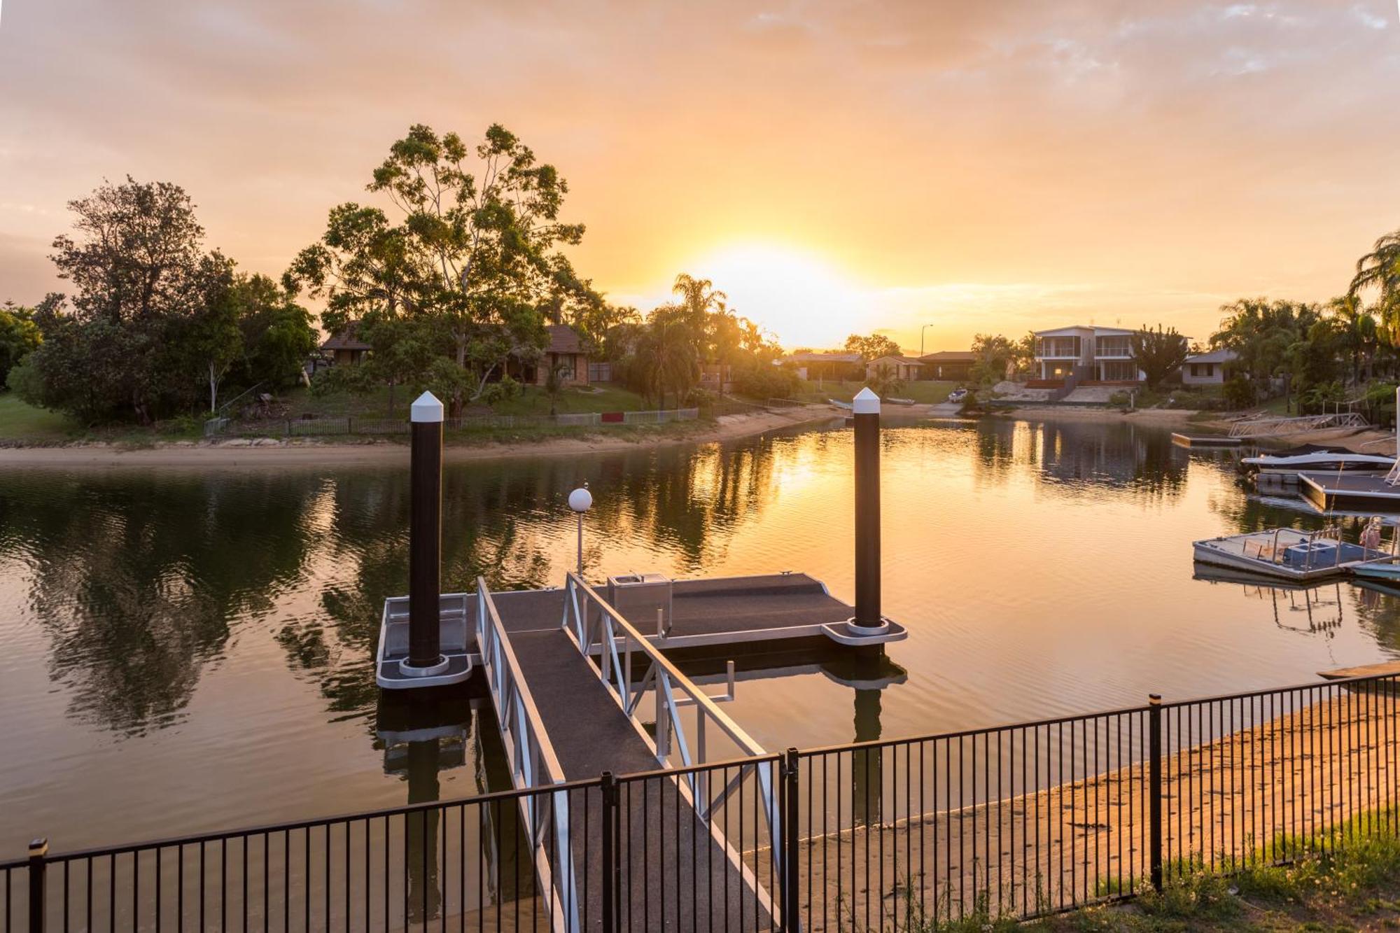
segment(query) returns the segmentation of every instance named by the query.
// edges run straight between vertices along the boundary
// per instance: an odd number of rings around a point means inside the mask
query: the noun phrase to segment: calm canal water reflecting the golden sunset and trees
[[[888,427],[883,458],[883,602],[910,639],[879,670],[749,671],[727,709],[769,748],[1400,656],[1394,597],[1194,579],[1194,538],[1317,523],[1246,497],[1229,455],[1130,424],[988,422]],[[452,465],[444,584],[560,583],[585,479],[592,577],[791,569],[853,598],[841,427]],[[489,709],[378,707],[406,528],[406,469],[0,471],[0,857],[34,835],[67,850],[494,786]],[[458,740],[427,773],[385,740],[438,720]]]

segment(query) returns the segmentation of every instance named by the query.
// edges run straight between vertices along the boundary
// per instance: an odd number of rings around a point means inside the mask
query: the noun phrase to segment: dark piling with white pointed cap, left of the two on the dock
[[[442,402],[424,392],[413,402],[409,481],[409,658],[406,672],[445,670],[438,594],[442,556]]]

